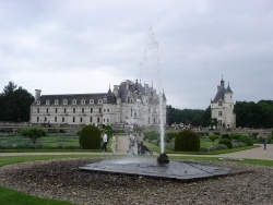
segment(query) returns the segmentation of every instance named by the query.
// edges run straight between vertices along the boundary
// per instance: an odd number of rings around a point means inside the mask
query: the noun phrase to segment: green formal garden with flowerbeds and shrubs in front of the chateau
[[[88,126],[87,126],[88,128]],[[82,129],[84,130],[85,126]],[[109,137],[108,147],[111,146],[112,133],[126,135],[128,133],[115,131],[111,126],[97,129],[96,145],[85,146],[81,142],[81,129],[59,128],[1,128],[0,129],[0,152],[19,150],[100,150],[100,137],[107,132]],[[91,131],[91,133],[94,131]],[[154,152],[159,153],[159,133],[156,131],[134,130],[133,134],[143,136],[144,143]],[[186,135],[186,136],[185,136]],[[262,133],[235,133],[235,132],[193,132],[191,130],[167,131],[165,133],[166,153],[191,152],[193,154],[221,154],[251,148],[254,144],[261,144]],[[91,138],[88,133],[85,136]],[[266,135],[268,143],[272,142],[272,133]],[[92,144],[93,141],[90,143]],[[93,143],[94,144],[94,143]],[[110,149],[110,148],[109,148]]]

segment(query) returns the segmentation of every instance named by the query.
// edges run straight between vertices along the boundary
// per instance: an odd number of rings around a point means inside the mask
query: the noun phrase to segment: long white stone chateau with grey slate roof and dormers
[[[158,125],[161,116],[166,123],[166,97],[164,92],[149,84],[144,86],[127,80],[114,85],[107,93],[40,95],[35,91],[31,106],[31,123],[48,125]],[[159,109],[162,105],[162,111]],[[161,114],[162,113],[162,114]]]

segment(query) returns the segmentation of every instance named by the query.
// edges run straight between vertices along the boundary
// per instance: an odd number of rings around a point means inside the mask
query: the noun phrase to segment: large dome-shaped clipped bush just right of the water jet
[[[177,133],[175,140],[176,152],[199,152],[200,137],[191,130],[183,130]]]

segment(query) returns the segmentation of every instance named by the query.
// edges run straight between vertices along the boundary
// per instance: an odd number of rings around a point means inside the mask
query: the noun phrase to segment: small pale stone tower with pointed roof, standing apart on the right
[[[225,87],[225,82],[222,77],[221,84],[217,86],[217,94],[211,100],[211,117],[217,119],[217,126],[234,129],[236,128],[236,114],[234,113],[233,91]]]

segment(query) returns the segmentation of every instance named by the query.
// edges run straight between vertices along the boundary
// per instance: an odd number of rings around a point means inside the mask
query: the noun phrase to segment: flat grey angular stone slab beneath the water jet
[[[80,169],[182,181],[195,181],[241,172],[228,167],[190,161],[169,161],[169,164],[161,165],[151,158],[107,159],[85,165]]]

